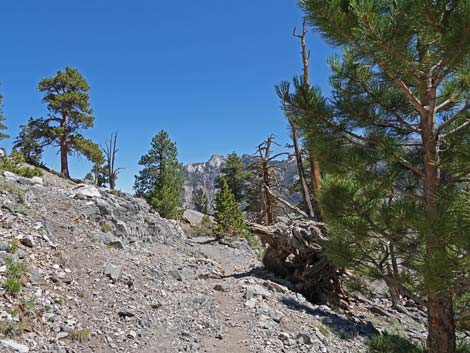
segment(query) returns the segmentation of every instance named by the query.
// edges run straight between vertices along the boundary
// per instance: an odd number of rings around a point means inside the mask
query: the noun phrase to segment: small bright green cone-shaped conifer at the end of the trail
[[[235,195],[230,191],[227,180],[219,179],[219,191],[215,196],[216,234],[223,236],[243,236],[247,232],[245,220],[239,209]]]

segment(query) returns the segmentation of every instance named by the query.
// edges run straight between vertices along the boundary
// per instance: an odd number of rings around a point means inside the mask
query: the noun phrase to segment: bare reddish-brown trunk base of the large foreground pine
[[[450,295],[428,297],[428,323],[429,353],[454,353],[456,351],[455,320]]]

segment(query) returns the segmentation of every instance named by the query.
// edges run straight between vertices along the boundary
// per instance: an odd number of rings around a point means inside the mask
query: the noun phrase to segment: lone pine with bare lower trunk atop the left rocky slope
[[[44,93],[43,102],[50,114],[47,118],[30,120],[28,128],[32,130],[29,132],[40,146],[59,147],[60,172],[69,178],[69,154],[78,152],[96,157],[96,149],[99,149],[80,134],[82,129],[93,127],[88,95],[90,87],[76,69],[66,67],[56,76],[41,80],[38,89]]]

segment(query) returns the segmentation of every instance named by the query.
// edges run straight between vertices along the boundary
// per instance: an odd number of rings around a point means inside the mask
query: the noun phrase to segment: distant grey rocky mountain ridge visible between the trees
[[[242,155],[243,164],[249,166],[256,161],[250,155]],[[213,155],[207,162],[191,163],[185,166],[184,200],[183,204],[189,209],[194,209],[193,196],[202,188],[209,199],[209,209],[213,209],[215,194],[217,192],[216,180],[221,175],[226,157]],[[292,185],[297,178],[295,158],[276,160],[272,164],[276,166],[276,172],[282,188]]]

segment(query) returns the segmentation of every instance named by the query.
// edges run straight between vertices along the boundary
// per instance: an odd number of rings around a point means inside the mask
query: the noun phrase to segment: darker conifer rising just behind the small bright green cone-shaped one
[[[224,167],[221,170],[222,177],[228,184],[230,191],[235,196],[235,200],[241,203],[246,197],[247,180],[250,173],[245,170],[243,160],[235,152],[227,156]]]

